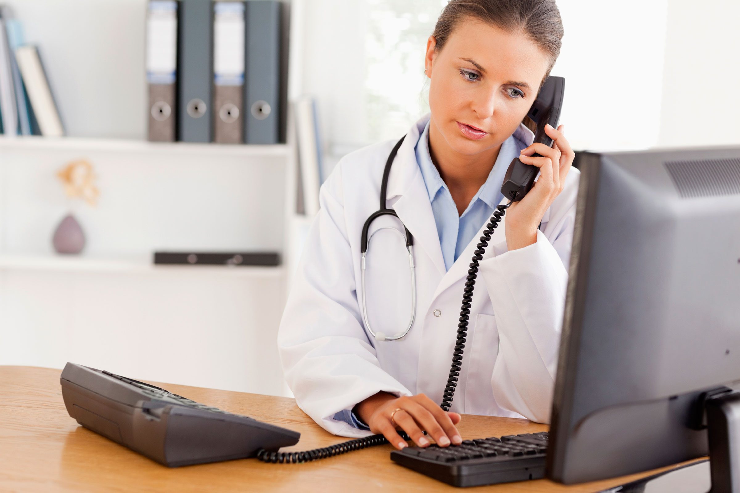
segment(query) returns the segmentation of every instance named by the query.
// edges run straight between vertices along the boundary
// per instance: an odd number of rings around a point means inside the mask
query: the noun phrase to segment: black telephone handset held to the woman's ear
[[[545,84],[542,84],[542,89],[539,90],[536,101],[527,113],[527,116],[536,124],[535,142],[542,142],[548,147],[552,146],[553,139],[545,133],[545,124],[551,124],[553,128],[557,128],[564,93],[565,78],[550,76]],[[539,156],[537,153],[533,155]],[[512,202],[522,200],[527,192],[531,190],[537,172],[539,172],[538,167],[524,164],[519,161],[519,158],[514,158],[506,171],[501,193]]]

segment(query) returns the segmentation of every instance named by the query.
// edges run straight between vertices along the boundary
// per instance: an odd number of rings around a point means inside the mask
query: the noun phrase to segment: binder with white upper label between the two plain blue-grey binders
[[[243,142],[244,2],[213,4],[213,130],[221,144]]]

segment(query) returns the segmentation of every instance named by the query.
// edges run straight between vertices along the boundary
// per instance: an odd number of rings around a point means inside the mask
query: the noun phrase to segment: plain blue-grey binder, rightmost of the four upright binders
[[[280,138],[280,13],[280,1],[246,1],[246,144]]]

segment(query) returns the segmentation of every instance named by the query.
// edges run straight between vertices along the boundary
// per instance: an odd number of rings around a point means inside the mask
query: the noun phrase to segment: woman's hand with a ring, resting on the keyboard
[[[396,411],[396,409],[400,409]],[[393,412],[395,414],[393,414]],[[401,396],[396,398],[388,392],[378,392],[357,404],[357,414],[370,426],[370,431],[386,437],[397,449],[408,446],[398,435],[402,429],[417,446],[426,447],[429,440],[422,430],[434,438],[437,445],[445,447],[450,443],[460,445],[462,437],[455,425],[462,416],[457,412],[447,412],[424,394]],[[393,415],[394,424],[391,422]]]

